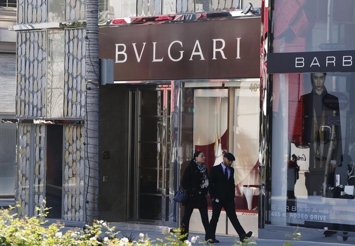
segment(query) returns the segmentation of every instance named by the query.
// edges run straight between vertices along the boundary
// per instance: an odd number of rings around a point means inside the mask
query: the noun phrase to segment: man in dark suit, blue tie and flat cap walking
[[[219,243],[216,240],[216,227],[222,207],[227,213],[229,220],[233,227],[236,229],[240,242],[250,238],[253,234],[252,231],[245,233],[245,230],[240,225],[236,214],[235,207],[235,189],[234,183],[234,169],[231,167],[236,158],[232,153],[226,152],[223,156],[223,162],[217,166],[212,167],[210,171],[210,186],[209,192],[212,199],[212,218],[210,221],[210,240],[209,243]]]

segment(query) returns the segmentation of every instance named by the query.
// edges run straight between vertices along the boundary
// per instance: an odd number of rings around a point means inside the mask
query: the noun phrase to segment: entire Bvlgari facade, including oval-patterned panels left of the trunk
[[[138,9],[139,1],[121,2]],[[236,210],[256,227],[260,18],[241,13],[243,1],[226,1],[231,10],[217,12],[209,12],[221,7],[214,1],[180,10],[175,1],[144,2],[143,12],[129,17],[118,15],[115,3],[99,1],[100,57],[115,60],[117,82],[105,86],[96,86],[90,76],[98,80],[99,71],[88,69],[98,62],[89,57],[95,39],[87,33],[85,0],[17,5],[10,27],[17,39],[15,116],[1,117],[17,129],[16,212],[37,215],[45,200],[47,218],[65,225],[99,218],[178,227],[172,198],[193,152],[205,151],[211,168],[228,150],[237,157]],[[88,147],[87,125],[96,88],[99,162],[89,161],[96,150]],[[199,230],[199,218],[192,220]],[[231,228],[220,226],[220,233]]]

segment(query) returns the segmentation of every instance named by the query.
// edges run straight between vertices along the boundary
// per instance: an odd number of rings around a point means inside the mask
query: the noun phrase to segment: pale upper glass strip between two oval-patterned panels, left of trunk
[[[63,117],[64,32],[48,31],[47,117]]]

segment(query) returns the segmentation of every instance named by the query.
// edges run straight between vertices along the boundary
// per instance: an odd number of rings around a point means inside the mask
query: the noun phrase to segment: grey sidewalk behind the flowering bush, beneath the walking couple
[[[115,226],[116,229],[120,232],[123,232],[126,235],[133,234],[135,236],[135,240],[139,239],[139,233],[148,234],[151,239],[163,239],[164,235],[162,232],[167,230],[167,227],[155,226],[155,225],[144,225],[144,224],[135,224],[135,223],[109,223],[109,226]],[[119,234],[118,234],[119,236]],[[190,232],[189,240],[191,241],[191,237],[199,236],[198,242],[203,242],[204,234],[200,232]],[[236,241],[239,241],[239,238],[236,236],[228,236],[228,235],[217,235],[216,237],[219,240],[218,244],[215,246],[231,246]],[[256,242],[257,246],[283,246],[283,244],[287,241],[285,240],[274,240],[274,239],[260,239],[252,237],[251,240]],[[348,241],[351,242],[342,242],[342,238],[339,236],[332,236],[327,238],[328,242],[306,242],[306,241],[293,241],[292,246],[354,246],[355,240],[351,240],[349,238]],[[330,242],[329,242],[330,240]],[[198,245],[196,243],[195,245]]]

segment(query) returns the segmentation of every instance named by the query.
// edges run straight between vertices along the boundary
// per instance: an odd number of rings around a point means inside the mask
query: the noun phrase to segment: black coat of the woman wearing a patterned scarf
[[[208,171],[206,168],[206,175]],[[207,207],[206,194],[208,188],[201,188],[203,175],[196,163],[190,163],[182,176],[181,186],[187,191],[188,199],[183,205],[191,205],[196,208],[200,206]]]

